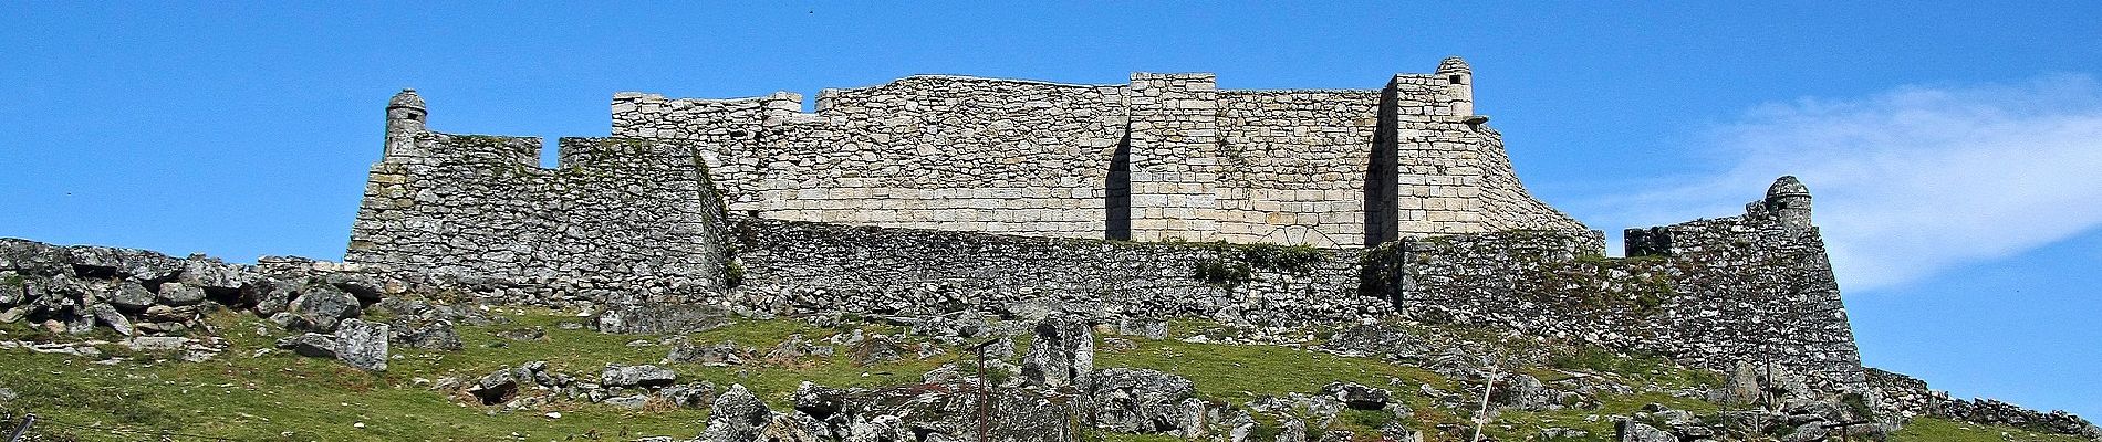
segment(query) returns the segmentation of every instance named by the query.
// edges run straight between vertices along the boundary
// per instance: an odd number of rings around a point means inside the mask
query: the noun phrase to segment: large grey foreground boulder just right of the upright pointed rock
[[[1150,369],[1101,369],[1087,379],[1095,425],[1125,434],[1188,432],[1202,421],[1190,421],[1183,400],[1196,396],[1196,385],[1179,375]]]

